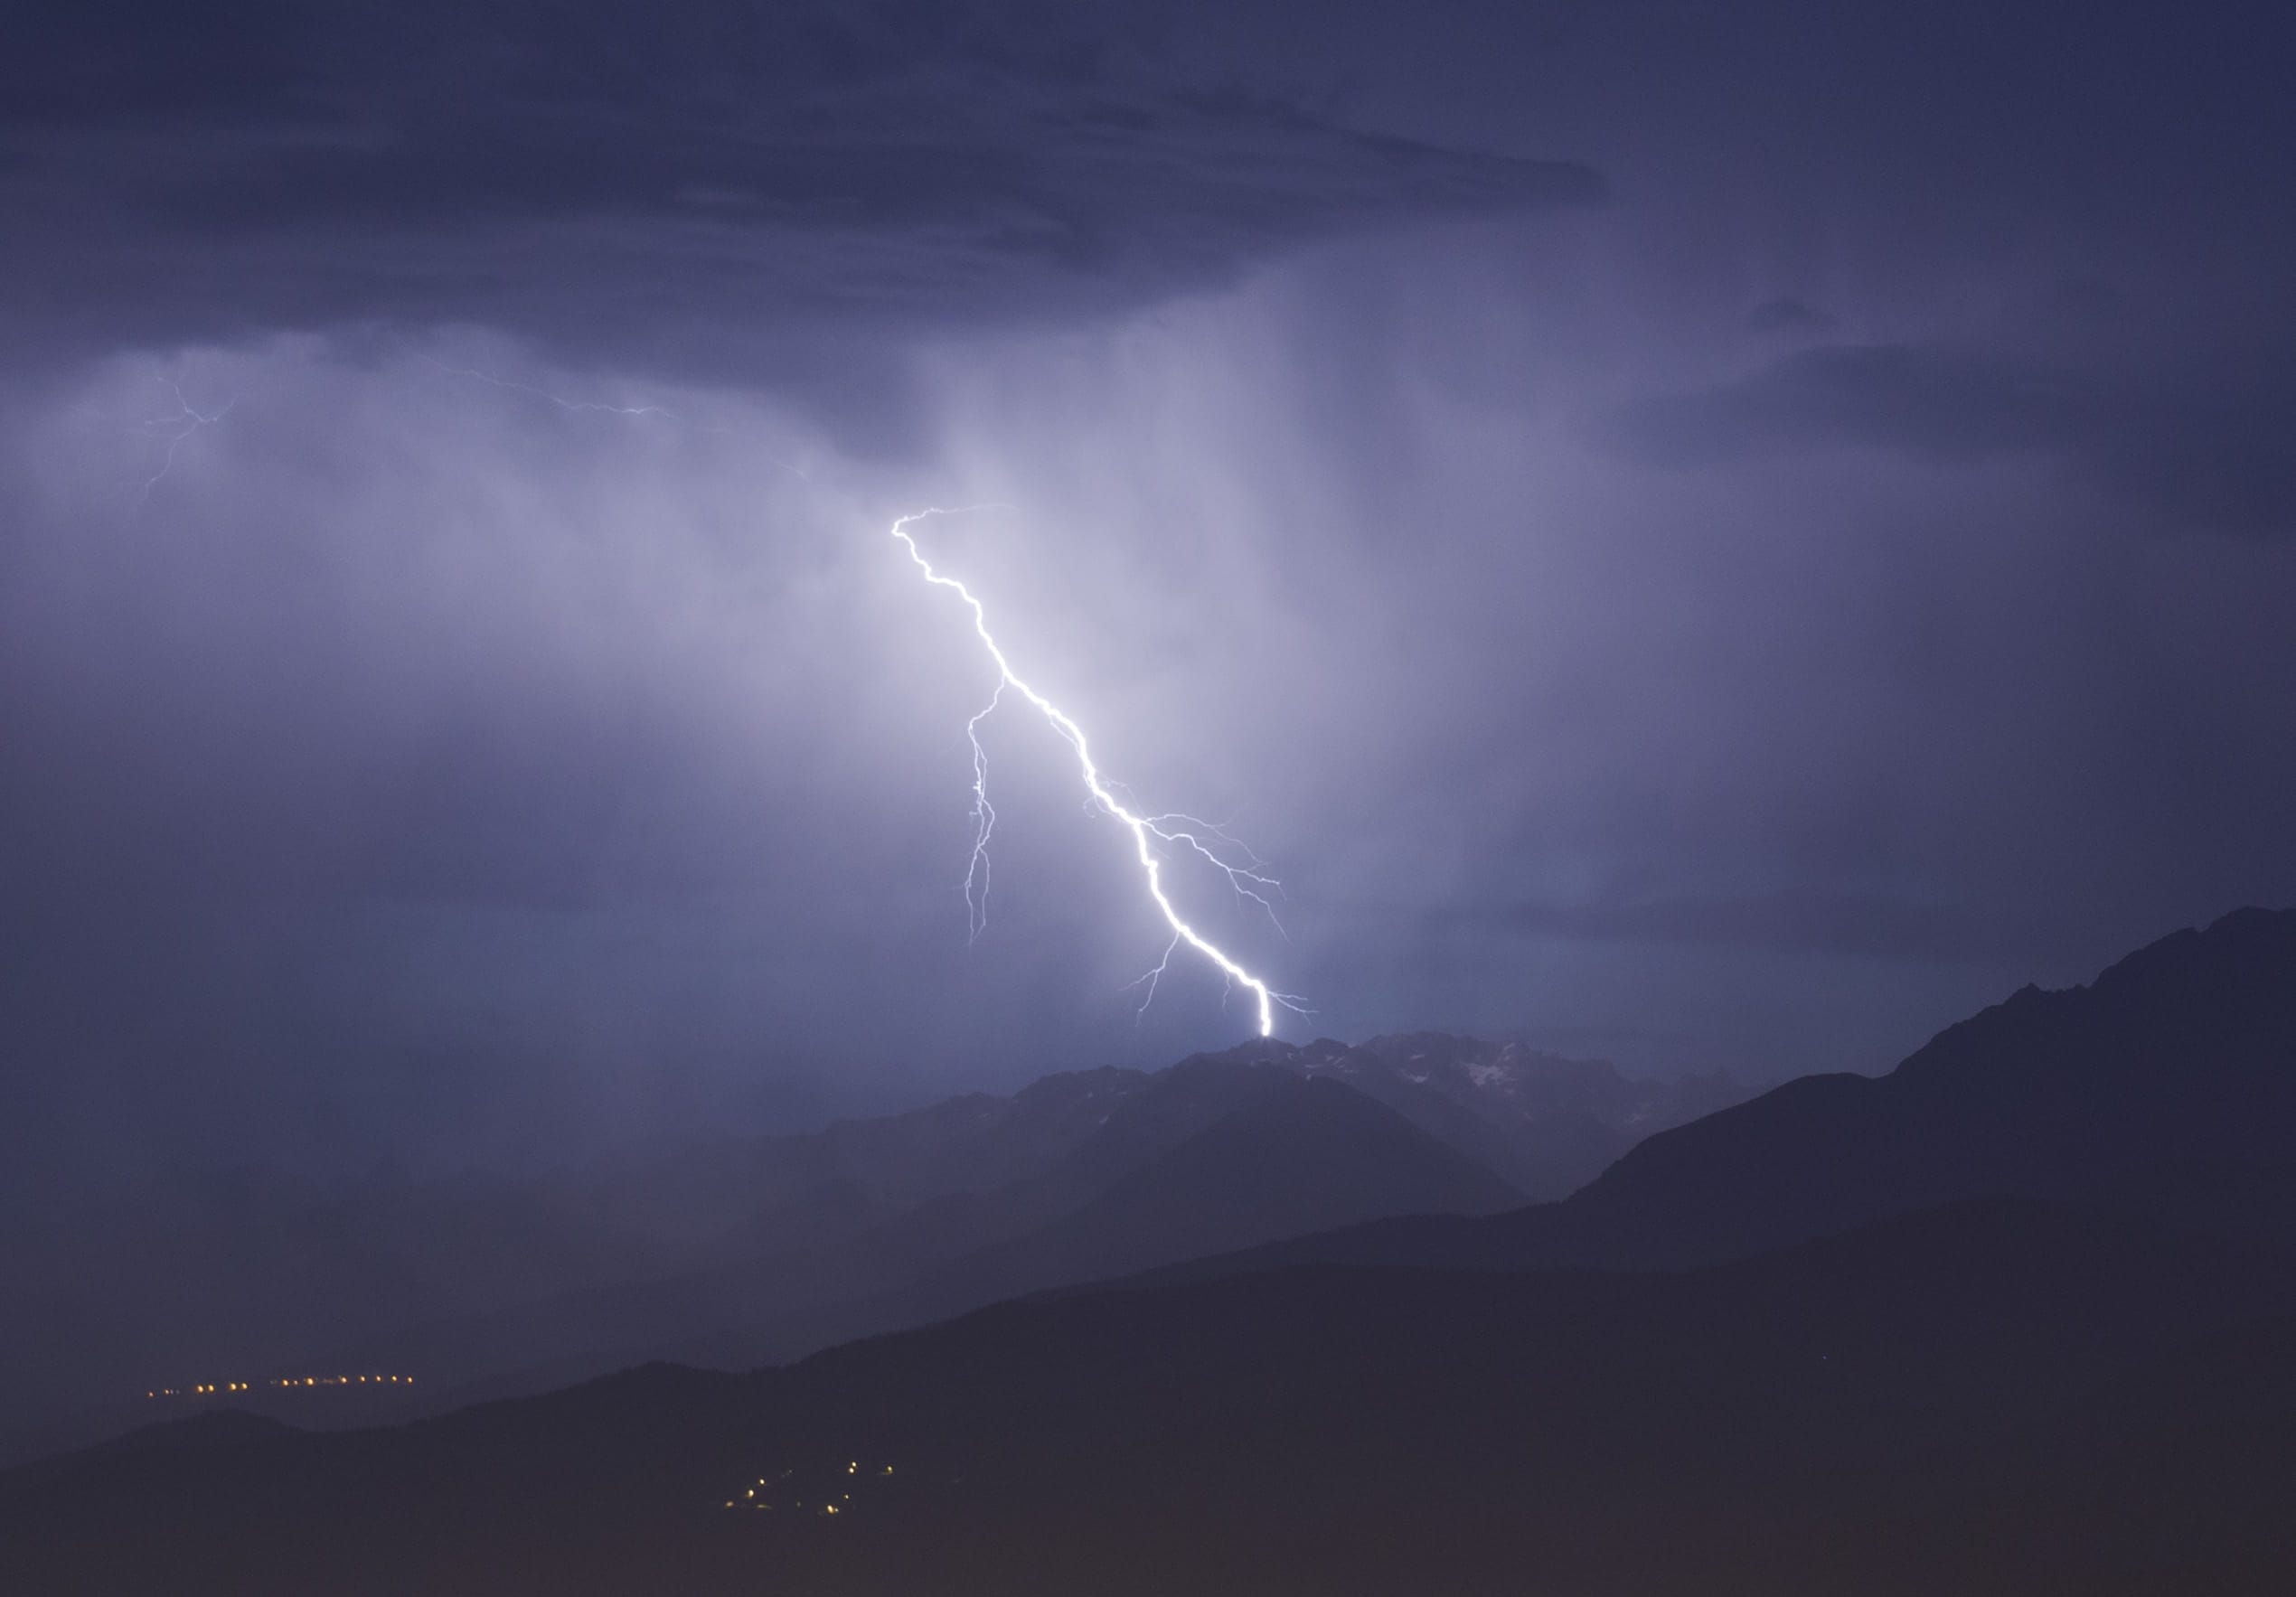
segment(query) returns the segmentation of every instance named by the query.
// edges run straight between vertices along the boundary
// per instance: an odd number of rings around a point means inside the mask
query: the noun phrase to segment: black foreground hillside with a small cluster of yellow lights
[[[0,1475],[0,1579],[2282,1590],[2291,1312],[2285,1253],[2034,1200],[1678,1276],[1079,1292],[753,1377],[654,1365],[388,1432],[253,1436],[188,1473],[115,1450]]]

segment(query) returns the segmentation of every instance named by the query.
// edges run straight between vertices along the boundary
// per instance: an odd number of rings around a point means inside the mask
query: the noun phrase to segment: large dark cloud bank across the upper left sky
[[[1600,195],[1176,78],[1049,9],[135,11],[11,39],[16,344],[459,321],[723,365],[824,314],[1075,317]]]

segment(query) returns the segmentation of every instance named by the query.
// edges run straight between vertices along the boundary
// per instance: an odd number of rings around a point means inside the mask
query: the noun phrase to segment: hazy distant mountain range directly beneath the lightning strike
[[[156,1182],[78,1216],[69,1248],[51,1225],[11,1239],[34,1308],[0,1326],[0,1356],[46,1379],[0,1404],[0,1459],[211,1407],[223,1393],[186,1397],[207,1384],[246,1381],[305,1425],[372,1423],[643,1358],[785,1361],[1352,1221],[1506,1209],[1736,1092],[1437,1035],[1256,1044],[530,1182]],[[276,1386],[315,1370],[416,1381]]]

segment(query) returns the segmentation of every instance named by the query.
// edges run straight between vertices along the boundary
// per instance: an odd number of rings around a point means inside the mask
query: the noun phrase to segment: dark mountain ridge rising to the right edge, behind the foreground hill
[[[1355,1260],[1678,1267],[1979,1193],[2296,1214],[2296,911],[2027,987],[1887,1076],[1805,1076],[1649,1138],[1564,1202],[1389,1221],[1205,1269]]]

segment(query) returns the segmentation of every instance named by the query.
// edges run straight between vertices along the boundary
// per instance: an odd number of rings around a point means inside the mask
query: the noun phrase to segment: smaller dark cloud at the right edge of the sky
[[[1919,344],[1800,351],[1715,388],[1630,402],[1612,434],[1639,459],[1717,466],[1807,450],[1947,461],[2037,454],[2172,530],[2296,532],[2296,358],[2110,372]]]

